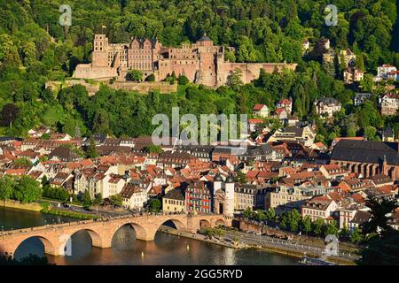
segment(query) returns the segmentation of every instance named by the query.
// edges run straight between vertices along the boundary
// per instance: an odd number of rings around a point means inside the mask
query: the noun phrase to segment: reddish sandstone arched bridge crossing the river
[[[74,233],[87,231],[91,244],[98,248],[111,248],[113,235],[121,226],[132,226],[137,240],[153,241],[155,233],[165,222],[171,221],[177,230],[196,233],[201,226],[231,226],[231,219],[223,215],[144,215],[110,218],[106,221],[83,220],[65,224],[39,226],[0,233],[0,253],[13,256],[20,244],[32,237],[43,242],[44,253],[65,255],[66,242]]]

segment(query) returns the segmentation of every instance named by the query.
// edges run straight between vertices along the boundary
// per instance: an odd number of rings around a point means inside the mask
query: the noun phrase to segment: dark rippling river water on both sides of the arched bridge
[[[77,221],[27,210],[0,208],[0,226],[4,230],[43,226],[45,223]],[[1,241],[1,239],[0,239]],[[30,238],[15,253],[21,258],[29,253],[44,255],[42,242]],[[166,233],[156,233],[155,241],[138,241],[134,229],[122,226],[113,236],[113,247],[91,247],[89,233],[72,236],[72,256],[48,256],[55,264],[298,264],[298,258],[257,249],[231,249]]]

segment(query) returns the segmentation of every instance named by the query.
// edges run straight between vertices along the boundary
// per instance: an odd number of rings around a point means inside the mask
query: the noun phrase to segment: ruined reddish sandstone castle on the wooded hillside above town
[[[92,62],[77,65],[74,78],[123,81],[129,70],[140,70],[144,78],[153,74],[160,81],[175,72],[176,76],[182,74],[194,83],[219,87],[235,69],[242,71],[241,80],[248,83],[259,77],[261,69],[272,73],[283,68],[295,70],[296,64],[228,62],[224,59],[224,47],[215,46],[206,35],[198,42],[172,48],[150,39],[110,43],[106,34],[95,34]]]

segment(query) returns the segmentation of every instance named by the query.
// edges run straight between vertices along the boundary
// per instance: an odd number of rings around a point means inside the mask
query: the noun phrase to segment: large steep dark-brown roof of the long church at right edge
[[[349,162],[399,165],[397,142],[340,140],[332,150],[331,159]]]

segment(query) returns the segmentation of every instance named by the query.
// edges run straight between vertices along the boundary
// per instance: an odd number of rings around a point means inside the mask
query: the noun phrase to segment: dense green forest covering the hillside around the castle
[[[338,25],[325,25],[325,6],[338,8]],[[72,26],[61,27],[61,4],[72,8]],[[317,121],[317,140],[367,133],[376,138],[383,126],[399,126],[397,116],[381,117],[372,76],[382,64],[399,67],[397,7],[392,0],[0,0],[0,134],[26,135],[45,124],[72,135],[151,134],[155,113],[250,113],[255,103],[273,108],[293,98],[300,119]],[[132,36],[157,38],[163,45],[195,42],[207,34],[215,44],[232,46],[236,62],[294,62],[296,72],[262,73],[251,84],[209,89],[179,85],[176,94],[135,93],[101,88],[88,96],[82,86],[54,93],[48,80],[66,80],[79,63],[90,62],[92,40],[106,33],[110,42]],[[305,39],[317,46],[328,38],[332,48],[350,48],[356,66],[366,72],[360,88],[348,88],[322,64],[320,50],[302,55]],[[177,82],[176,82],[177,83]],[[372,92],[372,101],[354,108],[357,91]],[[336,122],[318,119],[315,99],[335,97],[343,105]],[[5,109],[5,110],[4,110]],[[373,135],[373,136],[372,136]]]

